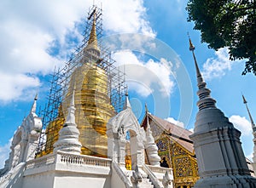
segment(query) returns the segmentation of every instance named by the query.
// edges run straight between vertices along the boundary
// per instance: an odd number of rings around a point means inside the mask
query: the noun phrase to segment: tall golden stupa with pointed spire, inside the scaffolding
[[[45,130],[45,150],[39,156],[53,151],[58,140],[58,133],[67,117],[67,108],[75,90],[75,119],[79,128],[79,141],[82,144],[81,154],[97,157],[108,156],[108,138],[106,124],[115,114],[108,96],[108,75],[98,64],[101,62],[101,51],[96,38],[96,14],[92,23],[88,43],[79,63],[69,80],[66,94],[59,107],[59,116],[49,122]]]

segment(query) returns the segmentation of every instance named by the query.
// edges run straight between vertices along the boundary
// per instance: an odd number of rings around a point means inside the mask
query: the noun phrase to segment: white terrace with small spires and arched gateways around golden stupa
[[[41,119],[32,111],[15,134],[12,152],[0,187],[56,188],[88,187],[172,188],[172,168],[161,168],[157,146],[149,130],[140,128],[126,96],[125,109],[108,122],[108,154],[110,158],[80,155],[79,129],[75,123],[74,94],[68,108],[66,122],[61,128],[54,152],[35,157]],[[125,168],[126,133],[131,133],[132,169]],[[152,140],[153,139],[153,140]],[[147,152],[150,165],[145,164]]]

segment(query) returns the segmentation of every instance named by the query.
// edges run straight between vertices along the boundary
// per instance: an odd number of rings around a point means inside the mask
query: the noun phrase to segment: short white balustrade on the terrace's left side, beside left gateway
[[[31,161],[26,162],[26,169],[38,168],[44,165],[52,164],[55,162],[55,154],[49,154],[44,157],[39,157]]]

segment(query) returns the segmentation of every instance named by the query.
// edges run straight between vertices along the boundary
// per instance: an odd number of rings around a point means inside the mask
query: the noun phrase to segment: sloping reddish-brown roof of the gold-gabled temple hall
[[[152,121],[156,123],[158,127],[162,128],[166,132],[166,134],[172,138],[172,140],[175,140],[177,142],[177,144],[182,145],[183,148],[191,153],[194,153],[193,141],[189,138],[189,135],[193,134],[191,131],[177,126],[172,122],[161,119],[160,117],[156,117],[150,113],[148,113],[148,119],[150,124],[152,123]],[[145,127],[146,124],[146,118],[144,118],[141,126]]]

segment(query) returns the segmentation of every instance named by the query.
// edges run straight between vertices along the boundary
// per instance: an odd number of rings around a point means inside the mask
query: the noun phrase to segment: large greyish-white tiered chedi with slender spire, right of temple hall
[[[200,179],[195,188],[256,187],[256,179],[250,175],[244,153],[241,149],[241,132],[234,128],[224,113],[212,99],[210,89],[201,77],[194,50],[189,39],[189,49],[195,60],[197,102],[199,111],[196,115],[194,134],[195,154],[198,162]]]

